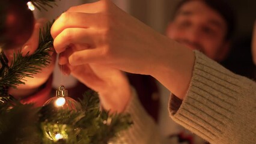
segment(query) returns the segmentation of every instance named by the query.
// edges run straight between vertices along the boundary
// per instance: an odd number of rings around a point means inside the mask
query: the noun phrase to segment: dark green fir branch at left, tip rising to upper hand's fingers
[[[14,53],[13,61],[9,68],[0,72],[0,91],[5,88],[16,88],[17,85],[24,84],[24,77],[32,77],[33,74],[40,72],[41,68],[46,67],[50,62],[50,47],[53,47],[53,39],[50,35],[50,27],[53,22],[40,30],[38,49],[32,54],[22,56],[22,53]]]

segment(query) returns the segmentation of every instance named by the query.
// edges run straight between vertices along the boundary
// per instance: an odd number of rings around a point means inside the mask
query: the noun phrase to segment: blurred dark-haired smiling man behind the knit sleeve
[[[166,29],[166,36],[184,44],[189,49],[200,50],[209,58],[222,62],[230,52],[233,30],[234,14],[225,2],[183,0],[175,8],[172,21],[169,22]],[[168,101],[166,97],[161,98],[165,103]],[[160,114],[162,116],[160,121],[163,121],[164,124],[162,122],[159,125],[165,137],[168,136],[168,133],[177,133],[178,129],[182,132],[181,128],[174,126],[174,122],[165,120],[168,118],[168,113]],[[166,125],[174,129],[169,130]],[[175,139],[174,136],[178,137],[180,141],[193,139],[191,134],[186,136],[181,132],[169,136],[169,140]],[[190,140],[191,143],[192,141]]]

